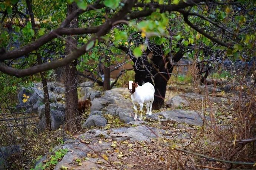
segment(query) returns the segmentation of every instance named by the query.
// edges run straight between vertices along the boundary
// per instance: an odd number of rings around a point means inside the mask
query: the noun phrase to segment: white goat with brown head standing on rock
[[[142,86],[139,86],[137,83],[134,83],[133,81],[129,81],[129,83],[126,84],[128,86],[129,92],[131,93],[132,103],[134,106],[134,120],[137,119],[137,104],[140,105],[140,118],[139,120],[142,120],[142,108],[143,103],[146,103],[147,105],[147,113],[146,115],[151,116],[152,115],[152,104],[154,101],[154,95],[155,95],[155,88],[154,86],[147,82]],[[149,109],[150,106],[150,109]]]

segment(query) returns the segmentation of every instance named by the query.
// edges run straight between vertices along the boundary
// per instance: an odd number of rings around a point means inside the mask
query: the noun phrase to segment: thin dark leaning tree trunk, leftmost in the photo
[[[29,0],[26,0],[26,4],[27,4],[27,9],[29,11],[30,19],[31,19],[32,29],[36,33],[36,29],[35,29],[36,24],[35,24],[34,13],[33,13],[33,10],[32,10],[32,4],[30,3]],[[38,64],[39,65],[42,64],[41,55],[37,51],[36,51],[36,57],[37,57]],[[46,81],[46,78],[45,78],[45,72],[40,72],[40,76],[41,76],[41,79],[42,79],[43,93],[44,93],[46,128],[49,128],[49,130],[51,130],[49,91],[48,91],[47,81]]]

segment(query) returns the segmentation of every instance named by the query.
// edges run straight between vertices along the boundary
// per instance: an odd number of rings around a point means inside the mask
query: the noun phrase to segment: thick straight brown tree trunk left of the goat
[[[67,16],[77,9],[76,3],[68,4]],[[69,24],[69,28],[78,26],[78,18],[74,18]],[[66,41],[65,54],[68,55],[77,48],[77,39],[69,36]],[[65,99],[66,99],[66,130],[75,132],[81,129],[81,117],[78,113],[78,92],[77,92],[77,60],[64,67]]]

